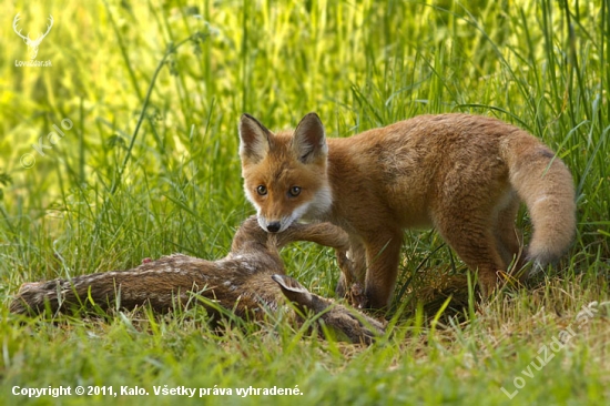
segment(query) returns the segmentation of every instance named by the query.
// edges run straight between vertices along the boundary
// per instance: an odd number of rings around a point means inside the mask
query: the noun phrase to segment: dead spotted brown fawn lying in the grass
[[[283,233],[266,233],[255,216],[237,230],[231,252],[218,261],[205,261],[182,254],[161,257],[128,271],[103,272],[48,282],[24,283],[10,304],[18,314],[65,311],[93,302],[102,309],[119,302],[122,308],[150,304],[155,311],[184,306],[192,294],[201,295],[206,309],[215,306],[247,319],[261,319],[265,308],[277,309],[285,298],[303,313],[318,314],[318,323],[343,333],[353,343],[370,344],[385,327],[378,321],[308,292],[285,275],[278,250],[295,241],[309,241],[334,247],[344,272],[350,267],[345,252],[346,233],[329,223],[293,224]]]

